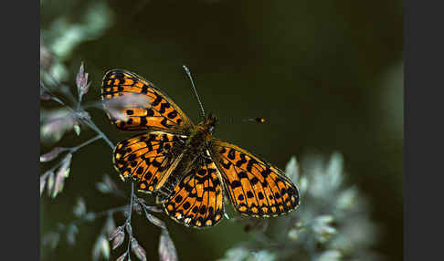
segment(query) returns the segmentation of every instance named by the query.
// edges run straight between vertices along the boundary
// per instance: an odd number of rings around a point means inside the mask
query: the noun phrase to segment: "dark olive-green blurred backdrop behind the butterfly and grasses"
[[[87,1],[72,6],[47,2],[54,5],[41,7],[42,27],[57,16],[54,10],[75,21]],[[357,184],[368,197],[372,218],[381,228],[375,250],[389,260],[403,257],[401,1],[107,3],[114,14],[112,26],[102,37],[79,45],[66,62],[71,82],[80,61],[85,62],[92,80],[87,101],[99,98],[106,70],[125,68],[164,89],[197,122],[200,111],[182,69],[186,64],[206,112],[221,119],[217,138],[282,169],[291,155],[342,152],[349,173],[346,183]],[[48,15],[46,6],[52,8]],[[117,131],[100,110],[90,111],[112,141],[133,134]],[[257,116],[266,118],[267,124],[241,123]],[[227,119],[233,123],[225,123]],[[94,135],[86,128],[82,131]],[[70,133],[63,142],[79,140]],[[41,200],[41,231],[72,218],[78,196],[95,211],[125,204],[95,190],[103,173],[120,182],[104,142],[76,153],[64,192],[56,200]],[[161,217],[183,260],[222,257],[228,247],[249,236],[241,224],[223,221],[213,229],[192,230]],[[118,224],[123,220],[119,218]],[[42,256],[90,259],[101,225],[80,226],[76,246],[62,244],[54,253],[43,248]],[[143,218],[134,219],[133,227],[148,259],[156,259],[159,229]],[[205,251],[196,251],[196,245]]]

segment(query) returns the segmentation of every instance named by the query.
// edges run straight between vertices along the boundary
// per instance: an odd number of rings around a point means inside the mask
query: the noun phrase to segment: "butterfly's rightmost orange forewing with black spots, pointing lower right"
[[[213,140],[211,154],[240,214],[275,216],[299,205],[296,186],[278,168],[234,144]]]

